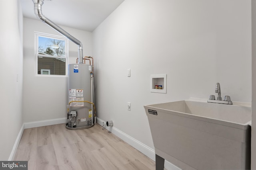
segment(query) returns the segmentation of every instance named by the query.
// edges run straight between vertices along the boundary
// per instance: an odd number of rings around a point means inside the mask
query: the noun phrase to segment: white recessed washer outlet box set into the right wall
[[[166,93],[166,74],[150,75],[150,92]]]

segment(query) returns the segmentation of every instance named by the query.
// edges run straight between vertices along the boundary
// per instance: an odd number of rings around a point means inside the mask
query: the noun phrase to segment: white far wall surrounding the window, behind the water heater
[[[61,26],[62,27],[62,26]],[[92,33],[62,27],[83,44],[84,56],[92,56]],[[40,20],[24,18],[24,122],[66,117],[68,78],[35,74],[34,31],[61,35]],[[78,46],[69,41],[69,63],[76,63]]]

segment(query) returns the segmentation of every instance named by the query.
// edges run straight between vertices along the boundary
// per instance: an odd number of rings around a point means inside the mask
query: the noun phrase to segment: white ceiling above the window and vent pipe
[[[32,0],[19,0],[25,18],[38,19]],[[92,32],[124,0],[44,0],[42,14],[58,25]],[[39,19],[38,19],[39,20]]]

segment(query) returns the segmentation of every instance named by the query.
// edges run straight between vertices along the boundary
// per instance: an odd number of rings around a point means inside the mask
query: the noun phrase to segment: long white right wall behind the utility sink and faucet
[[[125,0],[93,31],[96,114],[154,149],[143,105],[208,98],[217,82],[251,102],[251,50],[249,0]],[[151,93],[163,73],[167,93]]]

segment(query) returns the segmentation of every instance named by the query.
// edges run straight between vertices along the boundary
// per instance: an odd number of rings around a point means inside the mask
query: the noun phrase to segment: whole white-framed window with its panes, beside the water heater
[[[35,32],[36,75],[67,75],[68,39]]]

